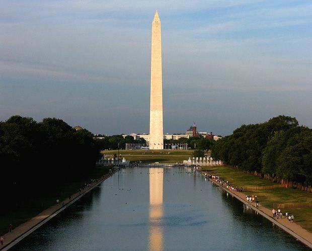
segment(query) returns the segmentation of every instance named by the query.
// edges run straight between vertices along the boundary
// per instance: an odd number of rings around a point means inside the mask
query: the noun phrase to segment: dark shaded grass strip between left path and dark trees
[[[100,178],[102,175],[105,175],[109,172],[110,167],[97,167],[92,170],[92,172],[83,178],[72,181],[68,184],[63,185],[60,188],[62,195],[58,198],[60,201],[68,198],[69,195],[72,195],[77,192],[78,188],[84,186],[84,184],[91,179]],[[55,205],[56,201],[55,196],[42,196],[39,198],[29,198],[29,204],[25,208],[19,208],[17,210],[11,210],[8,213],[0,215],[0,235],[3,235],[9,231],[9,224],[13,225],[13,228],[16,226],[30,220],[32,217],[36,216],[43,210],[47,209],[50,206]]]

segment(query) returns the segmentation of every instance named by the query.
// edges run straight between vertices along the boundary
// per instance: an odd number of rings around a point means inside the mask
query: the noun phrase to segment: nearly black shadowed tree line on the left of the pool
[[[3,205],[23,206],[30,196],[55,193],[59,185],[90,172],[100,149],[91,132],[76,131],[60,119],[12,116],[0,122]]]

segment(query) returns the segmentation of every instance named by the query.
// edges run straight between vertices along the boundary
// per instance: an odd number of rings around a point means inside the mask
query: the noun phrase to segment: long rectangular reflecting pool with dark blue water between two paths
[[[127,168],[12,250],[309,250],[191,168]]]

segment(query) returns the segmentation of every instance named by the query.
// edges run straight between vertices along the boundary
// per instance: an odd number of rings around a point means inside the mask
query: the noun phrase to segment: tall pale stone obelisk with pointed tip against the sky
[[[162,28],[157,11],[151,24],[149,149],[164,149]]]

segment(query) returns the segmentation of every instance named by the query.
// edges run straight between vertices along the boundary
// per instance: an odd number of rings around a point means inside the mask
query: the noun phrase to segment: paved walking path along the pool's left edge
[[[66,209],[69,205],[74,203],[76,200],[79,200],[85,194],[89,193],[92,189],[97,187],[101,182],[106,180],[108,177],[112,176],[114,173],[118,171],[117,168],[113,169],[112,173],[109,173],[101,178],[97,179],[97,182],[91,183],[91,186],[86,187],[83,192],[77,192],[70,196],[70,200],[65,199],[60,201],[58,205],[51,206],[48,209],[42,211],[40,214],[36,215],[29,221],[17,226],[12,230],[12,232],[8,232],[4,235],[4,244],[0,246],[0,250],[6,251],[9,250],[12,246],[17,244],[19,241],[24,239],[27,235],[31,234],[38,227],[42,226],[48,220],[53,218],[55,215]]]

